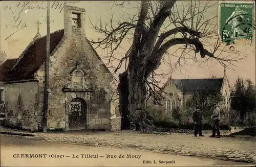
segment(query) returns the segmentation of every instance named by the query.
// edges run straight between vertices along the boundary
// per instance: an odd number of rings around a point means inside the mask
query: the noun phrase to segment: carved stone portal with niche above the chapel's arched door
[[[86,85],[85,76],[86,73],[77,63],[70,72],[69,83],[62,89],[66,97],[67,130],[86,129],[92,89]]]

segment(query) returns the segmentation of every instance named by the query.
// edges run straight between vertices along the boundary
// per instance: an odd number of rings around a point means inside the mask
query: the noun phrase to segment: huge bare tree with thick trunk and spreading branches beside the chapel
[[[182,66],[188,59],[203,61],[215,59],[224,64],[239,60],[222,54],[224,51],[218,38],[218,18],[211,15],[209,9],[217,7],[216,1],[115,1],[114,6],[122,9],[138,9],[138,13],[127,13],[123,21],[99,21],[93,25],[96,32],[104,35],[102,39],[91,41],[96,47],[108,50],[109,66],[117,72],[122,66],[124,71],[119,74],[119,106],[122,116],[121,129],[129,129],[130,124],[137,130],[150,131],[153,122],[145,110],[145,101],[153,97],[159,103],[161,89],[157,84],[156,73],[166,59],[176,57],[172,69]],[[208,17],[207,17],[208,15]],[[123,56],[116,51],[123,41],[132,41],[131,47]],[[174,47],[172,47],[174,46]],[[179,46],[179,47],[175,47]],[[173,49],[172,49],[173,48]],[[174,50],[179,50],[180,54]],[[193,52],[193,53],[192,53]],[[236,54],[233,54],[236,55]],[[165,58],[164,58],[165,57]],[[167,57],[167,58],[166,58]],[[118,62],[113,65],[113,62]]]

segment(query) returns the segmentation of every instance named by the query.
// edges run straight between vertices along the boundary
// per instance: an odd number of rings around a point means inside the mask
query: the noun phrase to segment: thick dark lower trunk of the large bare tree
[[[146,88],[143,76],[138,76],[138,71],[130,69],[120,74],[119,80],[121,130],[134,126],[137,131],[149,132],[153,122],[152,117],[145,110]]]

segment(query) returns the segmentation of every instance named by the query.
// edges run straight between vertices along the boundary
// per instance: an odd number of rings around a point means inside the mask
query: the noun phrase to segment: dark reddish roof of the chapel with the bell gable
[[[63,29],[55,31],[50,34],[50,38],[51,38],[50,54],[52,54],[55,47],[62,39],[63,34],[64,34]],[[91,45],[90,42],[89,44]],[[92,49],[95,52],[96,56],[100,59],[99,55],[97,54],[97,52],[94,50],[93,47]],[[46,36],[35,40],[31,45],[27,46],[24,53],[20,56],[18,63],[4,78],[4,81],[19,81],[19,80],[33,79],[34,73],[44,63],[45,59],[46,59]],[[109,71],[109,69],[105,66],[104,63],[103,65]]]

